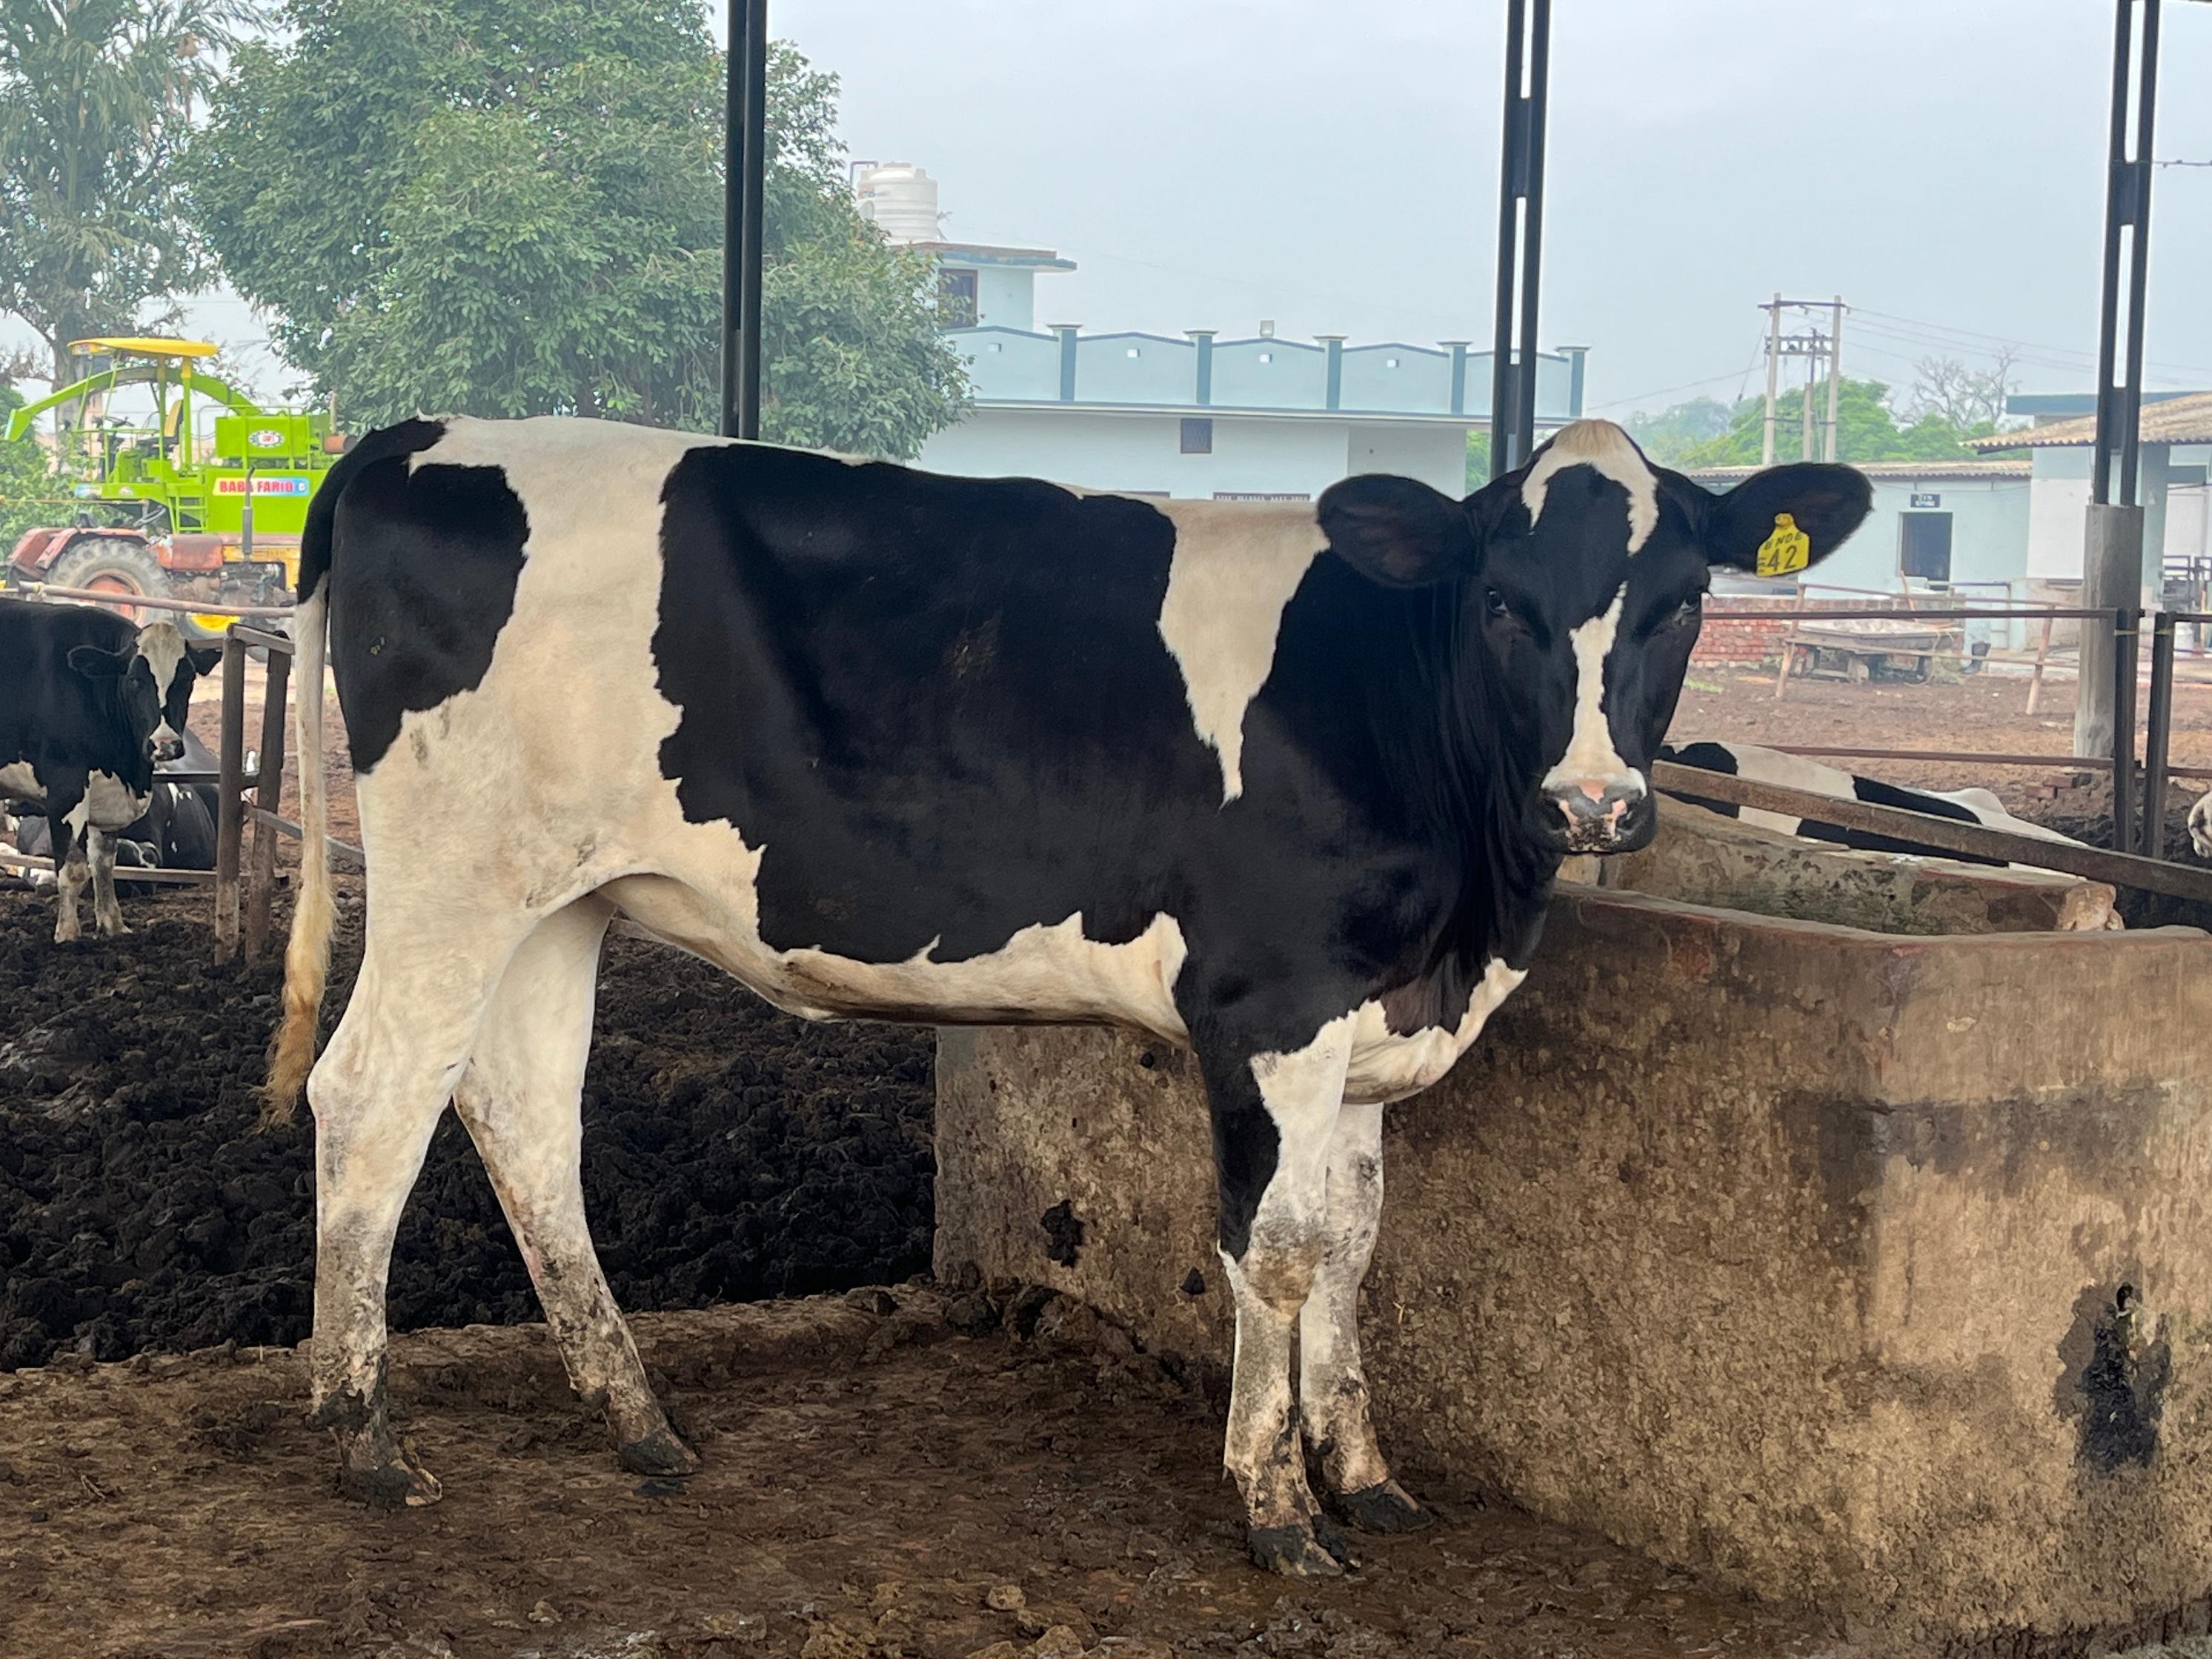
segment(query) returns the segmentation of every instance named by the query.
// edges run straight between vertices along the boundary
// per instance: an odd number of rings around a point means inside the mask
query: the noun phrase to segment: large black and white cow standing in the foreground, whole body
[[[1367,1413],[1383,1104],[1520,984],[1568,852],[1648,841],[1708,566],[1843,467],[1712,495],[1608,422],[1464,502],[936,478],[586,420],[416,420],[316,495],[299,684],[327,653],[367,940],[307,1077],[332,922],[321,699],[270,1102],[316,1117],[314,1413],[341,1480],[438,1498],[385,1405],[385,1263],[453,1102],[622,1462],[692,1469],[599,1274],[577,1175],[622,911],[810,1018],[1115,1022],[1188,1044],[1237,1298],[1225,1464],[1252,1555],[1340,1571],[1427,1520]],[[436,825],[434,834],[425,825]],[[1292,1369],[1301,1405],[1292,1407]]]

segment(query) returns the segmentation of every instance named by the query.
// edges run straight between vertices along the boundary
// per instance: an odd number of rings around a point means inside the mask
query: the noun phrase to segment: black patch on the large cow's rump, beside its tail
[[[323,495],[343,491],[330,661],[361,774],[398,741],[403,714],[484,681],[515,608],[531,529],[498,467],[431,460],[409,471],[409,453],[378,456],[347,482],[323,484]]]

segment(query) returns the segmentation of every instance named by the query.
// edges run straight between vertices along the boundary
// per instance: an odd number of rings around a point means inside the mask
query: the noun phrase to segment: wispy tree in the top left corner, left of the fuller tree
[[[71,378],[69,341],[128,334],[195,285],[177,155],[252,0],[0,0],[0,312]]]

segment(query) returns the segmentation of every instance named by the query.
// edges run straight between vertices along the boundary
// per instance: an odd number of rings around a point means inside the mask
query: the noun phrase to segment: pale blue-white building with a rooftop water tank
[[[891,241],[938,257],[947,336],[969,363],[975,407],[922,447],[925,467],[1197,500],[1310,500],[1367,471],[1467,491],[1467,434],[1491,400],[1491,354],[1467,341],[1037,327],[1037,276],[1073,261],[945,241],[936,179],[905,161],[858,164],[854,190]],[[1582,414],[1582,347],[1540,354],[1540,429]]]

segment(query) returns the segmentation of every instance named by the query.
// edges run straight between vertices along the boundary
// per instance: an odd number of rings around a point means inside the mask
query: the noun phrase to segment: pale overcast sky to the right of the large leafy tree
[[[717,13],[719,18],[719,13]],[[719,24],[717,24],[719,27]],[[1491,336],[1504,4],[770,0],[852,155],[947,234],[1051,246],[1037,321]],[[2095,378],[2110,0],[1559,0],[1540,338],[1608,414],[1756,389],[1759,301],[1845,372],[2017,341]],[[2168,4],[2159,157],[2212,159],[2212,4]],[[2212,387],[2212,168],[2159,168],[2146,383]],[[1690,385],[1699,383],[1699,385]]]

